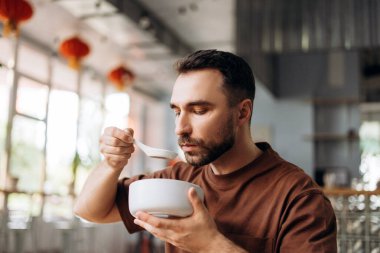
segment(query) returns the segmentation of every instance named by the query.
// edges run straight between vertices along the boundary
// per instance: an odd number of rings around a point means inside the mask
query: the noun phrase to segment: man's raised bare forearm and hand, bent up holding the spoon
[[[92,222],[120,221],[115,204],[117,182],[134,151],[133,130],[106,128],[100,138],[100,151],[104,161],[87,178],[75,203],[74,213]]]

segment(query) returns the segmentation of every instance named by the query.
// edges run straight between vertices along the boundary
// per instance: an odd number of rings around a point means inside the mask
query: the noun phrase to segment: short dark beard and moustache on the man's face
[[[228,151],[235,143],[234,127],[232,117],[229,117],[227,122],[223,124],[224,127],[217,133],[220,142],[205,143],[202,139],[193,139],[188,135],[183,135],[178,139],[178,144],[197,145],[199,151],[184,152],[186,161],[193,166],[203,166],[209,164],[226,151]]]

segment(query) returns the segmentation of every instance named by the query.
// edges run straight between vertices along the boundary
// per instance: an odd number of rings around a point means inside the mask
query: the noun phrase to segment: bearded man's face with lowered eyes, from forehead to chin
[[[174,84],[171,107],[178,144],[194,166],[215,161],[234,145],[233,108],[222,83],[219,71],[206,69],[181,74]]]

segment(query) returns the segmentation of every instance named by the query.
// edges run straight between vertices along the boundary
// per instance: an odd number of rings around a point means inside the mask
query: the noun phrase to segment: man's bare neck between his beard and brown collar
[[[262,151],[249,139],[235,145],[210,164],[216,175],[224,175],[234,172],[255,160]]]

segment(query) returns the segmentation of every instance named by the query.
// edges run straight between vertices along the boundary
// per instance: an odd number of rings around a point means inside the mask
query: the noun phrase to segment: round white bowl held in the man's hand
[[[129,186],[129,211],[133,216],[137,211],[162,218],[189,216],[193,213],[187,196],[191,187],[203,202],[202,189],[186,181],[162,178],[135,181]]]

